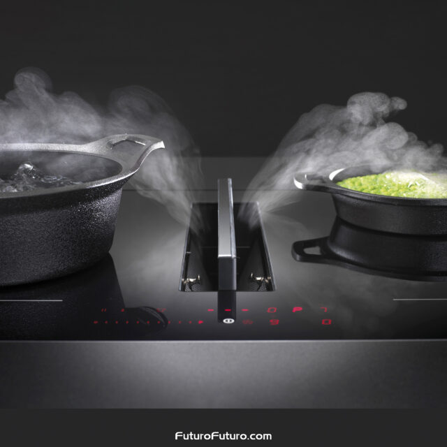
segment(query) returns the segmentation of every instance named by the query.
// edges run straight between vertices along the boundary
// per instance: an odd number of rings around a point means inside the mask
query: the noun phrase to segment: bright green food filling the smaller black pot
[[[382,174],[349,177],[337,184],[354,191],[381,196],[447,198],[446,173],[390,171]]]

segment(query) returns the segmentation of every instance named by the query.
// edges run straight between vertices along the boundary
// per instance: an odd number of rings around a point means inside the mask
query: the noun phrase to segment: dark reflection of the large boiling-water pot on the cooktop
[[[1,339],[140,339],[166,328],[151,307],[126,307],[110,255],[89,269],[0,288]]]

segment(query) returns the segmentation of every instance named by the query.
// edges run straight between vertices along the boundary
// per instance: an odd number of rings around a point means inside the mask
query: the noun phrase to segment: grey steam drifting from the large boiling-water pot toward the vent
[[[179,221],[189,220],[190,191],[200,189],[202,181],[198,147],[160,96],[143,87],[124,87],[112,91],[107,108],[101,109],[71,91],[55,94],[38,68],[19,71],[14,85],[0,101],[2,142],[82,143],[116,133],[160,138],[166,150],[153,152],[131,182]]]

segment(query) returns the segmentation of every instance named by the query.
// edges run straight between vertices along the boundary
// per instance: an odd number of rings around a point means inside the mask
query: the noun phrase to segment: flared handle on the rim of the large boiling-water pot
[[[119,143],[124,141],[135,143],[135,148],[129,150],[129,145],[119,145]],[[115,159],[115,161],[122,164],[124,171],[133,174],[154,149],[163,147],[165,145],[159,138],[123,133],[90,142],[85,145],[84,151],[105,156],[108,159]]]

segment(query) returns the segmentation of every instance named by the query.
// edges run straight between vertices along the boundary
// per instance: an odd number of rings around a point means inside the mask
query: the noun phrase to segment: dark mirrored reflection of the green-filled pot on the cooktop
[[[447,281],[447,236],[381,233],[337,218],[328,237],[297,241],[292,255],[296,261],[385,277]]]

